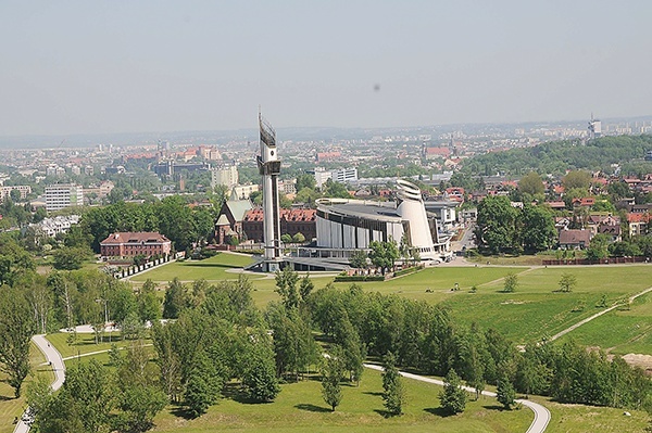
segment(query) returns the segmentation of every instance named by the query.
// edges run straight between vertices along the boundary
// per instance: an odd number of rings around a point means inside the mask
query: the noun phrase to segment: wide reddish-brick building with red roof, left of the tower
[[[111,233],[100,242],[102,257],[166,256],[172,251],[172,241],[153,231]]]

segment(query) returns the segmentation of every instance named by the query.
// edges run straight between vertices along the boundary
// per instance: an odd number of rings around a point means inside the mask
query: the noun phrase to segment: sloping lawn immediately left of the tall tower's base
[[[175,277],[181,281],[195,280],[235,280],[237,273],[227,272],[229,269],[242,268],[252,263],[252,258],[239,254],[220,253],[203,260],[174,262],[155,269],[131,277],[131,281],[142,282],[151,279],[155,282],[167,283]],[[262,276],[261,276],[262,277]],[[255,276],[253,277],[255,278]]]

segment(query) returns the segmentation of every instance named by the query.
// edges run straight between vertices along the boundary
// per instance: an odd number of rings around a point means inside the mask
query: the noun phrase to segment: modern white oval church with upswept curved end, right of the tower
[[[372,241],[394,240],[417,249],[422,260],[450,259],[449,240],[440,240],[435,215],[426,213],[421,190],[397,181],[397,202],[317,200],[317,249],[349,256]]]

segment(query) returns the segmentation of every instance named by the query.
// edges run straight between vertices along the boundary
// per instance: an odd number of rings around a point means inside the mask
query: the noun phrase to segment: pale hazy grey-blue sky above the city
[[[0,0],[0,136],[652,114],[652,1]]]

